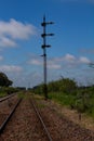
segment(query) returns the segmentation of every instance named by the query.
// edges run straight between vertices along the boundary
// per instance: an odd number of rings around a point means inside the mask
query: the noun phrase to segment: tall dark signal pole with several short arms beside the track
[[[43,27],[43,34],[41,37],[43,38],[43,72],[44,72],[44,85],[43,85],[43,92],[45,100],[48,100],[48,87],[46,87],[46,48],[50,48],[50,44],[46,44],[46,36],[53,36],[54,34],[46,34],[46,25],[54,24],[53,22],[45,22],[45,16],[43,16],[43,22],[41,23],[41,26]]]

